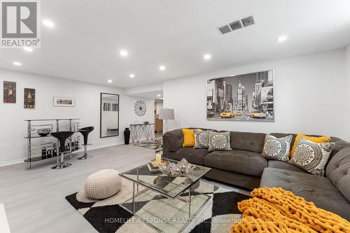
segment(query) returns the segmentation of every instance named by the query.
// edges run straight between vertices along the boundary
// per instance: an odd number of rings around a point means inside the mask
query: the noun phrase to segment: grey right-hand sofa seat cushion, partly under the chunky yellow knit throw
[[[350,203],[328,178],[268,167],[262,174],[260,187],[283,188],[319,208],[350,219]]]

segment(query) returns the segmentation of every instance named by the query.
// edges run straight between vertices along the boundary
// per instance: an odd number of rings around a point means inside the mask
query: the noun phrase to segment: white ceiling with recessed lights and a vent
[[[41,16],[55,27],[42,26],[41,48],[33,52],[0,50],[0,68],[116,87],[160,83],[343,48],[349,8],[349,0],[45,0]],[[216,27],[249,15],[255,25],[218,33]],[[288,41],[277,43],[283,34]]]

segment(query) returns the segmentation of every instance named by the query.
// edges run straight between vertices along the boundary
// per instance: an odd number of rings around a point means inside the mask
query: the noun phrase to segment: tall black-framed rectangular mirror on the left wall
[[[119,94],[101,93],[99,136],[119,135]]]

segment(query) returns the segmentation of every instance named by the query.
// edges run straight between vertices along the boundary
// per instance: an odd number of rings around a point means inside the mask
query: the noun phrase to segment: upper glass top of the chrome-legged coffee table
[[[169,163],[178,162],[176,160],[165,160]],[[162,174],[160,171],[153,173],[148,169],[147,164],[144,164],[135,169],[125,171],[120,176],[162,195],[174,198],[197,183],[208,171],[210,171],[209,167],[195,165],[195,168],[187,174],[174,177]]]

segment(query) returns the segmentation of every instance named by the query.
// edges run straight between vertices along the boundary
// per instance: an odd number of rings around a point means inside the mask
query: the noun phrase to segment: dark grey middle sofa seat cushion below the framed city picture
[[[204,157],[204,165],[260,177],[267,160],[259,153],[245,150],[214,151]]]

